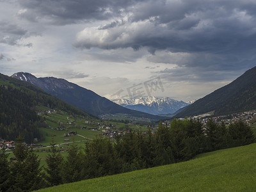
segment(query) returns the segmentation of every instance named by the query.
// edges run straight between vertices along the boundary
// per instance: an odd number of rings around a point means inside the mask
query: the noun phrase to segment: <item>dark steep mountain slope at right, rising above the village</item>
[[[256,67],[232,83],[196,100],[175,117],[200,115],[209,111],[214,111],[214,115],[228,115],[251,109],[256,109]]]

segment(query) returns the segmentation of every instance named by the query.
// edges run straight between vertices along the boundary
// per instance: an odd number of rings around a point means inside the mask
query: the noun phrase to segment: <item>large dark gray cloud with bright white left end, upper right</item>
[[[157,3],[158,1],[150,6],[155,8],[154,4]],[[111,22],[109,24],[111,28],[84,29],[77,35],[76,45],[101,49],[152,47],[168,49],[172,52],[221,53],[239,52],[244,50],[244,46],[254,47],[250,40],[256,38],[255,15],[248,15],[246,10],[241,10],[239,6],[230,10],[230,7],[223,7],[221,4],[204,7],[203,2],[198,2],[199,8],[190,10],[190,5],[183,3],[173,13],[175,6],[172,8],[172,4],[167,6],[163,4],[161,8],[166,12],[159,8],[157,14],[147,17],[145,17],[147,6],[143,6],[135,10],[131,19],[122,25]],[[172,9],[169,10],[169,7]],[[202,12],[200,8],[206,10]],[[144,15],[137,15],[136,11]],[[179,11],[177,16],[175,13]],[[90,37],[93,40],[89,41]]]

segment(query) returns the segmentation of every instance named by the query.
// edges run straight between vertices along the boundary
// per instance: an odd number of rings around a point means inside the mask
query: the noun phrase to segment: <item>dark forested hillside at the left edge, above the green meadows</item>
[[[15,140],[24,136],[27,143],[42,139],[42,120],[37,108],[61,109],[67,113],[92,118],[88,113],[70,106],[30,83],[0,74],[0,138]]]

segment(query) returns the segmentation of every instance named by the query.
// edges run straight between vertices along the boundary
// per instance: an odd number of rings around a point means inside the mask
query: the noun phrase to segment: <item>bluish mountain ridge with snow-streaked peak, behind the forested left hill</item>
[[[94,116],[106,113],[125,113],[152,119],[161,118],[159,116],[154,116],[148,113],[142,113],[140,111],[134,111],[119,106],[105,97],[101,97],[100,95],[97,95],[97,93],[78,86],[77,84],[70,83],[65,79],[58,79],[55,77],[37,78],[32,74],[24,72],[13,74],[12,77],[34,84],[35,86],[42,88],[42,90],[45,92],[54,95],[55,97],[72,104],[72,106],[76,106],[77,108]]]

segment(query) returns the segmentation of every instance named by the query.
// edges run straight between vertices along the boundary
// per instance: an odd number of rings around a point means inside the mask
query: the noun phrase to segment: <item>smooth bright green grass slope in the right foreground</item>
[[[64,184],[40,191],[255,191],[256,143],[191,161]]]

